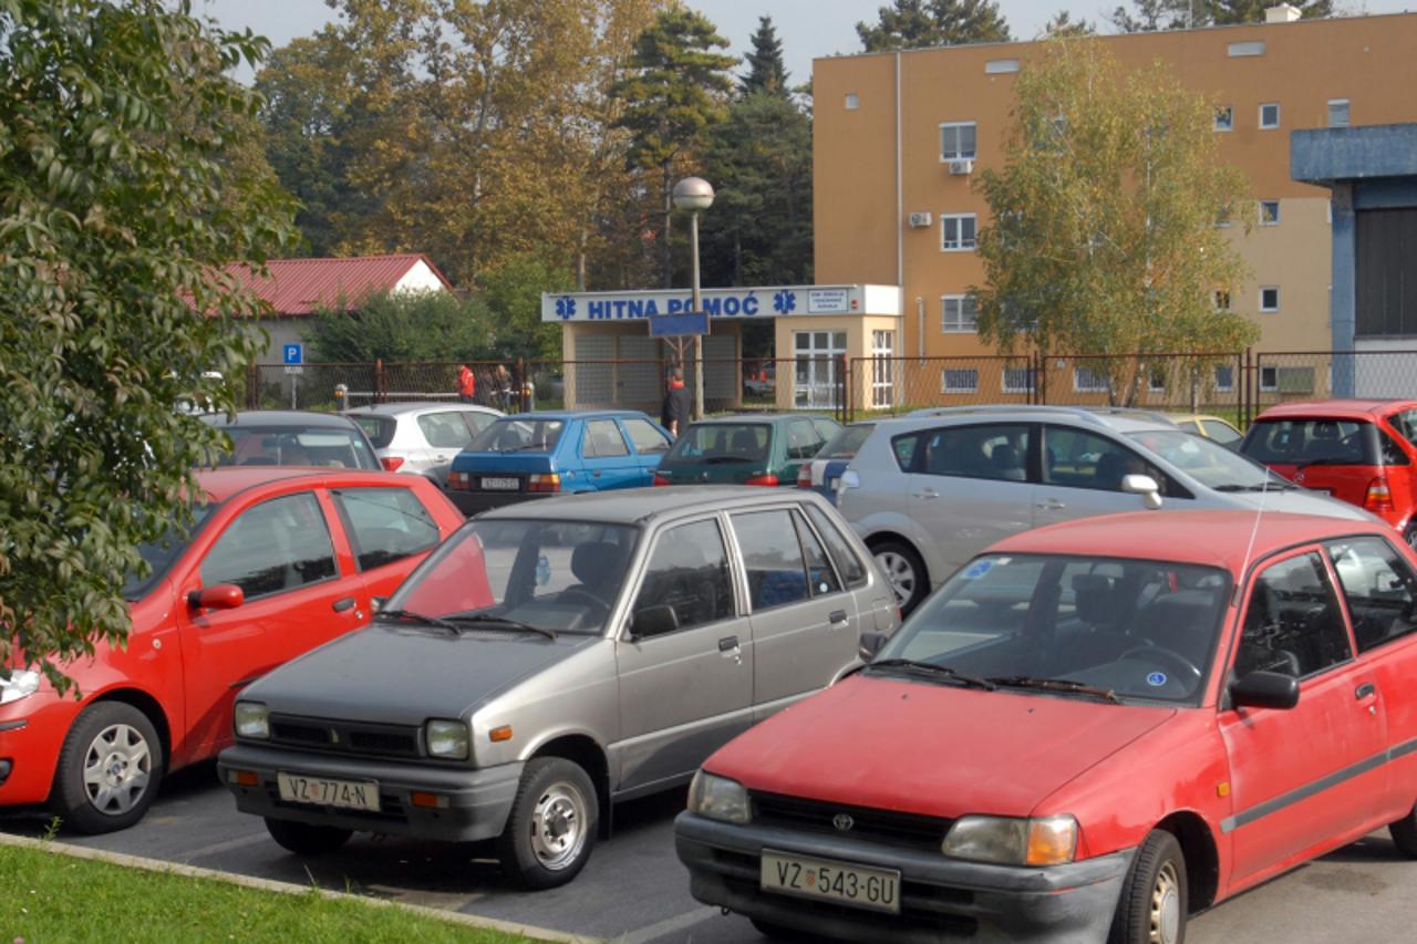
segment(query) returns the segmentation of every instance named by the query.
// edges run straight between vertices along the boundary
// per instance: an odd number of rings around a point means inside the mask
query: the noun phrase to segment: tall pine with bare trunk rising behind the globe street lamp
[[[669,232],[674,162],[724,119],[733,88],[728,69],[737,60],[714,50],[727,45],[708,20],[676,3],[639,35],[628,74],[614,86],[612,94],[623,102],[616,126],[631,133],[628,166],[660,172],[663,225],[656,238],[665,288],[673,279]]]

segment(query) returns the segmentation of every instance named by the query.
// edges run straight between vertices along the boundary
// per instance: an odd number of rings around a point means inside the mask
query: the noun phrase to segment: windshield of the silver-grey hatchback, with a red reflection
[[[639,529],[598,522],[485,519],[462,527],[400,587],[385,611],[496,631],[497,621],[599,634]]]

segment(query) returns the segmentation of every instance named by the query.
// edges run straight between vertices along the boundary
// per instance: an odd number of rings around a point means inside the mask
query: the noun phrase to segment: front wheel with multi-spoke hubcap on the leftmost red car
[[[153,805],[163,761],[146,714],[125,702],[95,702],[64,738],[50,807],[75,832],[128,829]]]

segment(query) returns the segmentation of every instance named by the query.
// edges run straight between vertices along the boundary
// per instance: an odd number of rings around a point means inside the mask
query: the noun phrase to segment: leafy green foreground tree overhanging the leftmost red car
[[[130,628],[139,544],[190,522],[218,431],[176,405],[228,390],[256,299],[220,275],[295,237],[232,160],[264,40],[164,0],[0,3],[0,666],[61,665]]]

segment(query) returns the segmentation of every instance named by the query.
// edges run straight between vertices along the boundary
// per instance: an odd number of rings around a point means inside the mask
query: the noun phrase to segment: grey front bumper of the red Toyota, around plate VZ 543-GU
[[[898,869],[901,913],[866,911],[760,887],[762,849]],[[1107,940],[1134,849],[1064,866],[1022,867],[772,826],[734,826],[691,812],[674,821],[690,893],[704,904],[809,934],[850,941]]]

